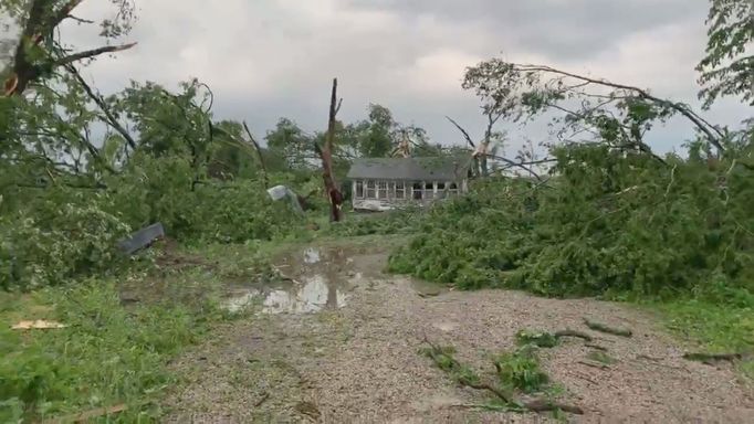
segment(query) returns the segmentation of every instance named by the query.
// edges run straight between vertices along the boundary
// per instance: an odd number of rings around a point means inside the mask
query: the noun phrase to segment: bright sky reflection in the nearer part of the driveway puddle
[[[306,314],[324,308],[339,308],[345,303],[346,295],[317,275],[306,279],[303,286],[294,285],[287,289],[248,289],[229,299],[226,308],[235,312],[261,304],[263,314]]]

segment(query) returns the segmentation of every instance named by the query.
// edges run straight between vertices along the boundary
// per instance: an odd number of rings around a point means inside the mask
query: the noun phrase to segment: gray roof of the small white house
[[[348,179],[387,180],[461,180],[465,177],[469,158],[363,158],[354,160]]]

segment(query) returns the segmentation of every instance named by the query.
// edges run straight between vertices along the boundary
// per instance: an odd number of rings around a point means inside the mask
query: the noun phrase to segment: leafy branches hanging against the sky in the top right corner
[[[754,106],[754,1],[711,0],[706,55],[697,65],[708,108],[725,96]]]

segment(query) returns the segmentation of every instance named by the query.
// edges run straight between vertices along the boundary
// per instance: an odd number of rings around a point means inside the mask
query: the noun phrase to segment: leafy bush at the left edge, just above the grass
[[[52,190],[13,214],[0,214],[0,288],[31,289],[88,273],[109,273],[116,241],[129,226],[101,205],[107,198]]]

